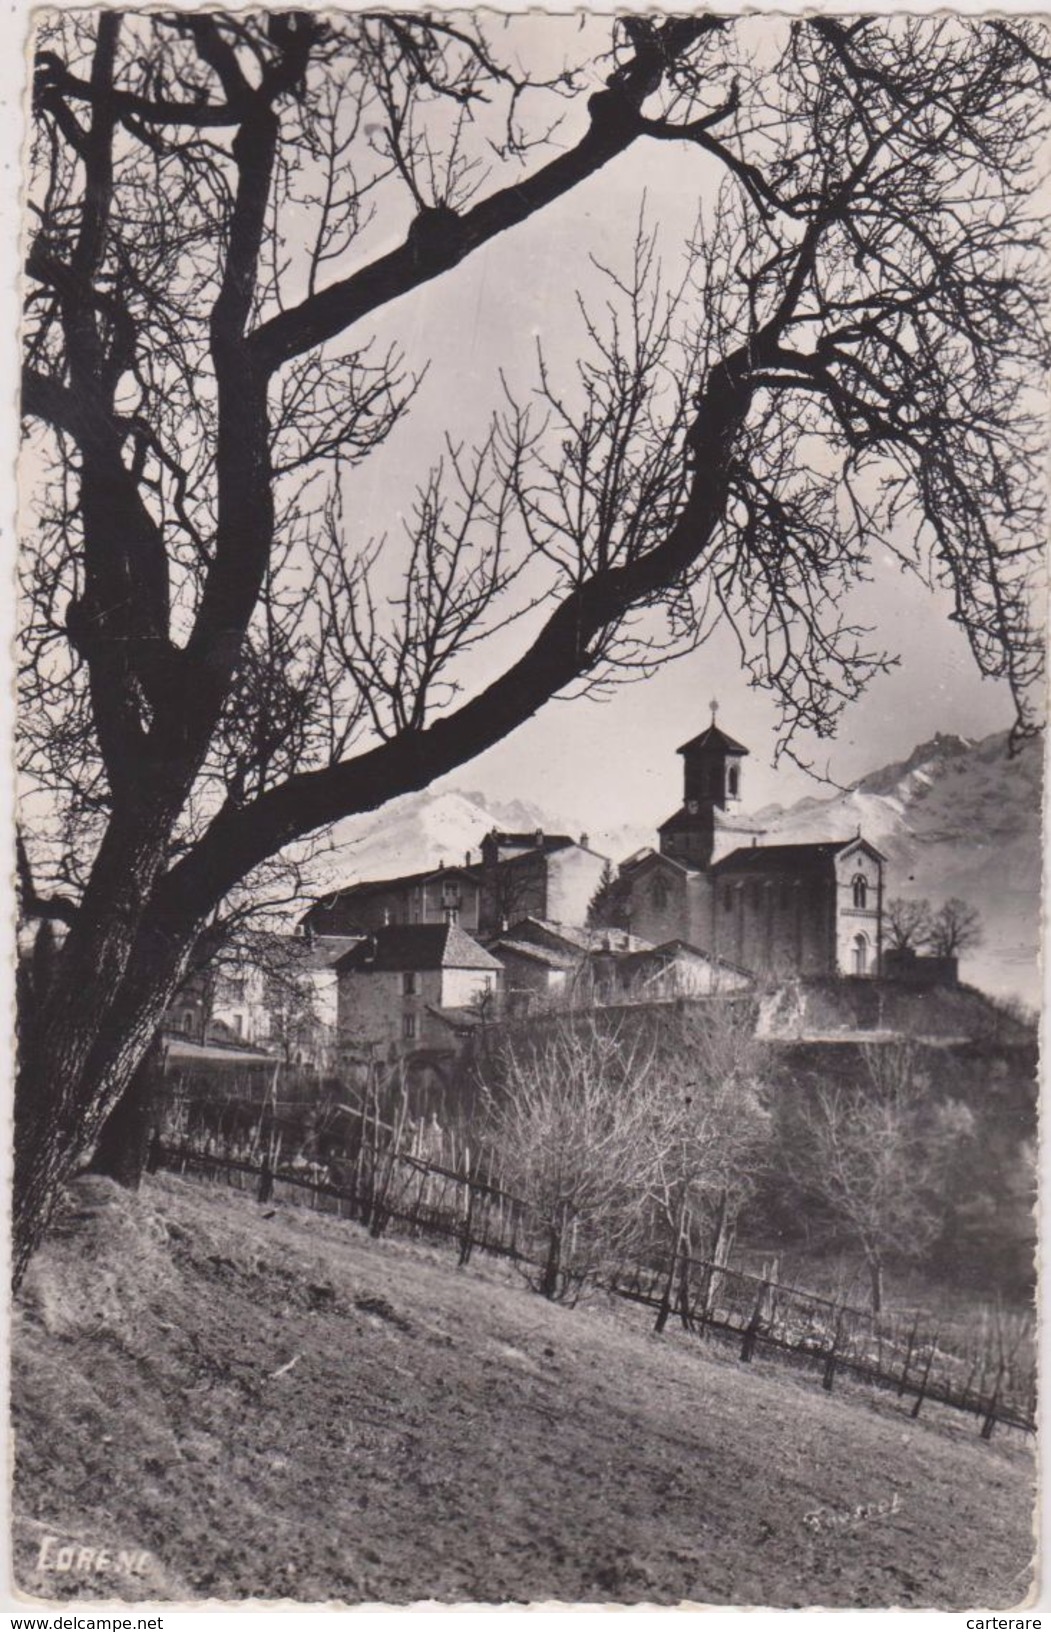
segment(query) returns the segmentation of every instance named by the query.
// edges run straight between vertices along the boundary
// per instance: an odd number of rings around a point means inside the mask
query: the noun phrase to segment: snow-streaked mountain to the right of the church
[[[933,736],[832,798],[757,811],[767,840],[849,839],[858,827],[888,858],[888,896],[960,896],[982,917],[961,976],[996,996],[1040,1000],[1043,743],[1013,757],[1007,733]]]

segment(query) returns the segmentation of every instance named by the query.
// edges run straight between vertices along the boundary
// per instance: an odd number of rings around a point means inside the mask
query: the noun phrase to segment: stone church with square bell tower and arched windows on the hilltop
[[[885,857],[862,839],[764,844],[743,813],[747,749],[715,723],[684,743],[659,850],[620,868],[633,935],[682,940],[759,979],[878,976]]]

